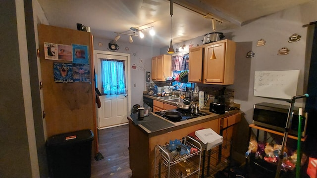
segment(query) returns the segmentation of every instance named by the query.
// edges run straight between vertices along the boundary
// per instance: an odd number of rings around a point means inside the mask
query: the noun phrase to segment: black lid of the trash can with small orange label
[[[91,130],[81,130],[64,134],[56,134],[48,138],[47,146],[86,142],[94,139]]]

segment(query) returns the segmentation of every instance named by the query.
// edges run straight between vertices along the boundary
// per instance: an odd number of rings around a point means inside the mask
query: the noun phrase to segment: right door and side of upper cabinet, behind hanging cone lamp
[[[230,40],[222,40],[205,46],[204,84],[233,84],[235,51],[236,44]]]

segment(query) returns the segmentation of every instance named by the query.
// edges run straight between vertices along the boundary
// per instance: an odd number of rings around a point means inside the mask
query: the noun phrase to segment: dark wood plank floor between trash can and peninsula
[[[104,159],[92,160],[91,178],[131,178],[129,168],[129,126],[99,130],[99,152]]]

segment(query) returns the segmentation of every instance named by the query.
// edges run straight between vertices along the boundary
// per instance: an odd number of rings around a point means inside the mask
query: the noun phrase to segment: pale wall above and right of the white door
[[[108,43],[111,40],[94,37],[94,49],[95,50],[108,50]],[[98,44],[102,43],[103,46]],[[143,106],[143,91],[145,90],[145,72],[151,72],[151,58],[159,55],[159,48],[153,48],[152,46],[134,45],[133,43],[123,43],[120,40],[117,41],[117,45],[120,46],[117,52],[127,53],[131,55],[131,106],[134,104],[140,104]],[[136,55],[133,55],[135,53]],[[132,69],[135,64],[137,69]],[[134,84],[136,87],[134,87]],[[131,108],[130,108],[131,109]]]

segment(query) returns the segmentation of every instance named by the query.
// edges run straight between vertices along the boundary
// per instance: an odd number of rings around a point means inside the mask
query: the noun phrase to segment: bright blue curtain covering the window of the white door
[[[124,61],[102,59],[102,94],[126,94]]]

